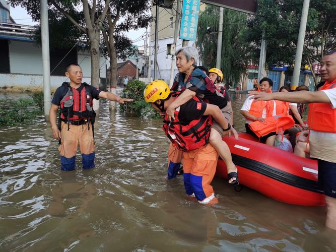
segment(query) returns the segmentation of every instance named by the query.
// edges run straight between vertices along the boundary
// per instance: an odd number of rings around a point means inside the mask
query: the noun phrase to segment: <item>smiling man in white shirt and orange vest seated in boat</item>
[[[269,78],[262,78],[259,82],[259,92],[271,93],[273,87],[273,81]],[[257,135],[248,126],[249,123],[253,121],[265,121],[268,116],[276,115],[276,103],[274,100],[271,101],[254,101],[249,97],[246,98],[243,106],[240,109],[240,113],[246,118],[245,129],[246,133],[257,137]],[[260,141],[274,146],[276,139],[276,132],[271,132],[264,137],[260,137]]]

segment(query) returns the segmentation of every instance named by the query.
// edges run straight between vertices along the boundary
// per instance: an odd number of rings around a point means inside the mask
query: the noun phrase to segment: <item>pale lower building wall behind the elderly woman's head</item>
[[[164,80],[167,84],[169,84],[170,79],[170,68],[171,68],[171,57],[172,55],[167,55],[167,44],[172,44],[174,42],[173,37],[164,38],[158,40],[158,65],[157,68],[157,79]],[[194,41],[189,41],[188,45],[192,46]],[[150,62],[151,62],[151,77],[154,77],[154,41],[151,41],[151,53],[150,53]],[[182,39],[177,39],[176,49],[182,47]],[[177,68],[174,62],[174,77],[178,73]]]

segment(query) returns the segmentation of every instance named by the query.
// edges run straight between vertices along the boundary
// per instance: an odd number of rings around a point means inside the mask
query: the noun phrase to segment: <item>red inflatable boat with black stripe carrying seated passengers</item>
[[[240,133],[239,140],[223,139],[237,166],[240,184],[277,201],[301,206],[324,205],[323,192],[317,185],[317,161],[259,143],[247,133]],[[216,175],[227,177],[221,159]]]

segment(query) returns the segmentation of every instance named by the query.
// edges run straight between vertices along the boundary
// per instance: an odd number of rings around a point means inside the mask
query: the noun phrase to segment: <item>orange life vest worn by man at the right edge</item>
[[[331,83],[325,82],[320,90],[336,88],[336,79]],[[336,133],[336,109],[329,103],[310,103],[308,125],[311,130]]]

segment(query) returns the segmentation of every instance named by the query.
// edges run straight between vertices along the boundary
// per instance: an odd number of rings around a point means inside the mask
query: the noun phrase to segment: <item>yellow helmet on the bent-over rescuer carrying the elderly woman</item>
[[[170,94],[170,88],[164,81],[153,81],[148,84],[144,90],[146,102],[156,102],[165,100]]]

